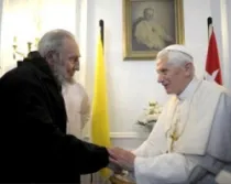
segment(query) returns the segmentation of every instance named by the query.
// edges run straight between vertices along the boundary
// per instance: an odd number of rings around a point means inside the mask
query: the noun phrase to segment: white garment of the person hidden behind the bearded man
[[[67,112],[67,133],[82,139],[82,129],[90,119],[88,95],[79,83],[66,83],[62,93]]]

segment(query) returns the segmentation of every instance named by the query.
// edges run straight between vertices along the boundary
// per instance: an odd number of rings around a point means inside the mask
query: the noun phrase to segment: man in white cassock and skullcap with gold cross
[[[136,184],[215,184],[231,165],[229,93],[195,76],[194,58],[183,45],[162,50],[156,68],[172,97],[147,140],[133,152],[111,151],[111,162],[133,173]]]

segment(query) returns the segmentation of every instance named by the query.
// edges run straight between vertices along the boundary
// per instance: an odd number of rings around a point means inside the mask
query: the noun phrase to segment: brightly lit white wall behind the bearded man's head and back
[[[18,51],[28,54],[28,42],[34,42],[52,29],[66,29],[76,33],[75,4],[79,0],[0,0],[1,67],[2,74],[16,65],[13,59],[13,37],[18,37]],[[3,3],[3,6],[1,6]],[[33,45],[32,45],[32,48]]]

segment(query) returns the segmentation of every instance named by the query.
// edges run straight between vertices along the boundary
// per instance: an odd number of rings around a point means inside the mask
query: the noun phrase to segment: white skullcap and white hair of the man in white
[[[180,47],[179,47],[180,46]],[[194,57],[184,50],[182,45],[170,45],[157,53],[156,59],[167,57],[168,64],[183,66],[186,63],[194,63]]]

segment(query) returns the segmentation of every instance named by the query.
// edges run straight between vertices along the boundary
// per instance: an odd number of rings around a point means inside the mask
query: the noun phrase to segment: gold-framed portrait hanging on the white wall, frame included
[[[184,43],[183,0],[123,0],[123,58],[155,59]]]

